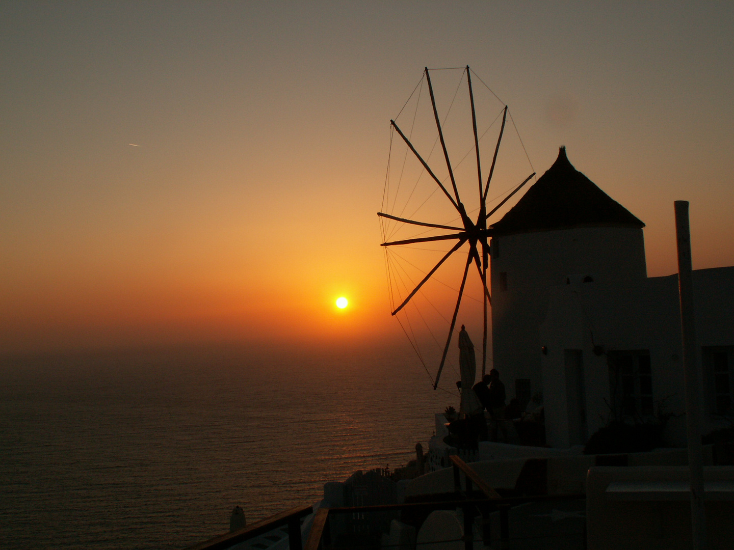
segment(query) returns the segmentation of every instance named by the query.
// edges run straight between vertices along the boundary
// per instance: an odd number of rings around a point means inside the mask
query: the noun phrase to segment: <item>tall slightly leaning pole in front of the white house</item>
[[[693,549],[706,548],[706,516],[703,507],[703,449],[701,445],[700,375],[694,326],[693,282],[691,269],[691,230],[688,201],[675,201],[675,234],[678,248],[678,285],[680,290],[680,331],[683,341],[683,378],[686,383],[686,436],[688,468],[691,471],[691,531]]]

